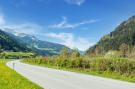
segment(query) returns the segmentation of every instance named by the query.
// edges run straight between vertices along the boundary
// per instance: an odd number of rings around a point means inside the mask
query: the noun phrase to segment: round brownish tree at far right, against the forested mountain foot
[[[119,50],[121,52],[122,57],[127,57],[129,47],[127,44],[123,43],[120,45]]]

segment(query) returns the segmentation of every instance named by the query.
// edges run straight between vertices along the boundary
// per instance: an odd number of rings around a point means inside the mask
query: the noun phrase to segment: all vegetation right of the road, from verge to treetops
[[[135,61],[125,50],[121,48],[104,55],[97,51],[96,55],[81,55],[77,50],[63,49],[56,56],[28,58],[23,62],[135,82]]]

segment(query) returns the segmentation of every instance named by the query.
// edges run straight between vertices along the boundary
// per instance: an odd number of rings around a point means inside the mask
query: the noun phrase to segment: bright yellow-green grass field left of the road
[[[0,59],[0,89],[43,89],[8,68],[6,62]]]

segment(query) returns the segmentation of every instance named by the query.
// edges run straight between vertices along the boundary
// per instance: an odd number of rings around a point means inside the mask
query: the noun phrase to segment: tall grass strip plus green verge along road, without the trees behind
[[[105,77],[111,77],[121,80],[135,82],[135,61],[130,61],[125,58],[92,58],[83,59],[84,57],[77,57],[72,59],[61,59],[59,56],[43,57],[23,60],[26,63],[52,66],[55,68],[66,68],[73,71],[80,71],[89,74],[96,74]]]

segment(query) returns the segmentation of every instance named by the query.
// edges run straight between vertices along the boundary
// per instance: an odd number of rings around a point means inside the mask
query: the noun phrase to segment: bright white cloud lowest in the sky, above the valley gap
[[[87,50],[90,46],[93,45],[90,41],[83,37],[77,37],[72,33],[48,33],[46,34],[47,37],[57,39],[61,41],[61,44],[66,45],[70,48],[77,48],[81,51]]]

